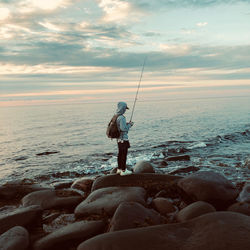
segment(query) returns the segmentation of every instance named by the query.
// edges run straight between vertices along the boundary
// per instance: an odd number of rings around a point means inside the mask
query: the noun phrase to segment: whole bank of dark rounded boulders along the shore
[[[132,175],[115,172],[0,186],[0,249],[250,249],[249,179],[159,174],[145,161]]]

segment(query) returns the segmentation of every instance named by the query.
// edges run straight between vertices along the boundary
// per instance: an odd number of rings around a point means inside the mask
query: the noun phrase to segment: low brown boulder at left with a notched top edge
[[[79,195],[69,197],[59,197],[55,190],[43,190],[30,193],[23,197],[22,204],[27,207],[31,205],[39,205],[43,209],[50,208],[74,208],[82,201]]]

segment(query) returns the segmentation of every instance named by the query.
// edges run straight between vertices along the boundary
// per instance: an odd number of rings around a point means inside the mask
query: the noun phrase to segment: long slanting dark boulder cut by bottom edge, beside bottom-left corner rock
[[[106,224],[103,221],[79,221],[68,226],[62,227],[53,233],[36,241],[34,250],[65,249],[67,244],[77,244],[86,239],[103,233]],[[63,247],[63,248],[62,248]]]

